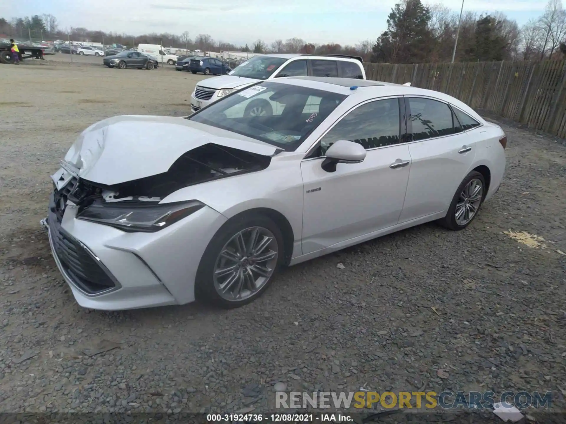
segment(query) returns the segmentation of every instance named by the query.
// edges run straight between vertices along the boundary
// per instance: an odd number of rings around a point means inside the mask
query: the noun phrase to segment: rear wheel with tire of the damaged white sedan
[[[441,226],[452,231],[464,230],[477,217],[486,193],[483,175],[471,171],[454,193],[446,216],[439,220]]]

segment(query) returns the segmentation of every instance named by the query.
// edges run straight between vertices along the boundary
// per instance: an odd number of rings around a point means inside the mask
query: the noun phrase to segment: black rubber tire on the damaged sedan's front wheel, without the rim
[[[272,241],[270,241],[269,245],[267,245],[260,253],[267,254],[268,252],[276,252],[276,258],[271,258],[268,261],[256,261],[255,265],[253,262],[254,259],[250,259],[249,263],[246,262],[245,265],[241,266],[242,272],[246,273],[246,270],[247,272],[250,272],[250,268],[254,270],[256,269],[256,266],[259,265],[260,269],[269,271],[269,276],[265,277],[267,280],[260,281],[262,278],[261,275],[257,274],[254,271],[255,275],[251,274],[251,276],[254,279],[258,277],[258,279],[255,280],[255,283],[258,284],[259,282],[260,287],[256,289],[256,291],[246,290],[242,287],[243,291],[241,293],[243,297],[241,298],[241,300],[238,300],[237,298],[232,298],[231,300],[229,300],[226,297],[222,297],[219,293],[219,289],[217,288],[217,283],[220,282],[221,277],[217,276],[215,279],[215,270],[218,270],[218,265],[220,264],[219,261],[222,260],[220,258],[220,253],[225,251],[224,249],[226,248],[226,245],[231,243],[233,237],[238,235],[239,232],[252,228],[267,230],[266,233],[271,233],[271,235],[273,236]],[[245,240],[245,243],[248,243],[248,241],[249,240]],[[246,253],[246,256],[253,258],[253,256],[248,253]],[[208,243],[203,257],[200,260],[195,279],[196,299],[200,302],[220,306],[224,309],[239,308],[239,306],[246,305],[263,295],[269,285],[271,285],[277,269],[281,267],[284,261],[284,257],[284,242],[281,230],[271,219],[258,213],[243,214],[235,219],[231,219],[226,222],[220,228],[220,230],[218,230],[214,237],[212,237],[212,240]],[[229,262],[228,264],[223,263],[222,268],[224,268],[225,266],[229,267],[230,263],[231,262]],[[244,283],[247,286],[247,281],[245,281]],[[235,282],[234,287],[236,287],[237,284],[238,282]],[[229,297],[228,295],[225,296]]]

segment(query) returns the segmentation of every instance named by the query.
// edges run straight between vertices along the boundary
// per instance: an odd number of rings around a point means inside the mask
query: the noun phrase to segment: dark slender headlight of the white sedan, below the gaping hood
[[[127,232],[155,232],[204,207],[199,201],[162,205],[126,205],[95,202],[83,209],[77,219],[108,225]]]

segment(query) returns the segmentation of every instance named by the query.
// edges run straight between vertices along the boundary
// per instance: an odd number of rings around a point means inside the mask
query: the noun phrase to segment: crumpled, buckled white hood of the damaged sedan
[[[80,178],[114,185],[166,172],[182,154],[213,142],[271,156],[275,146],[188,119],[123,115],[85,129],[65,155]]]

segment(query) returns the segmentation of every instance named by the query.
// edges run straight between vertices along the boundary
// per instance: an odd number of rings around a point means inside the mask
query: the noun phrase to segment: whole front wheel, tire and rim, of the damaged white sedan
[[[267,290],[284,257],[281,230],[271,219],[255,213],[231,219],[204,251],[195,296],[225,309],[246,305]]]

